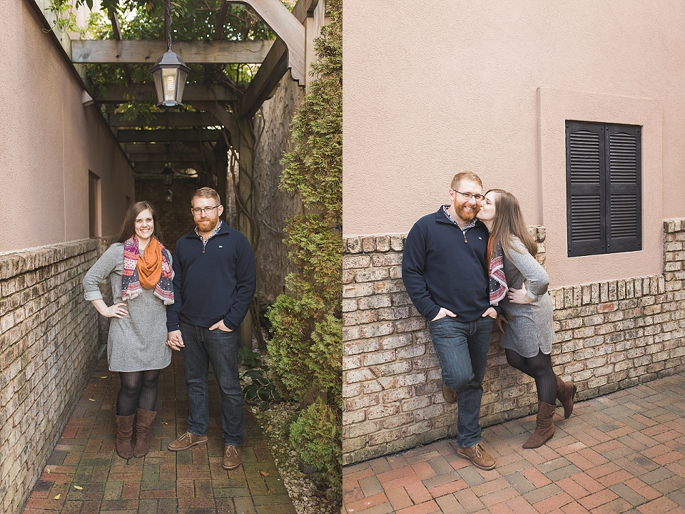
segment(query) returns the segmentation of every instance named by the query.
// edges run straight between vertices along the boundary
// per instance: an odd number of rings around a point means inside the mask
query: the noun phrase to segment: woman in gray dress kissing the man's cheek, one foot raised
[[[537,244],[514,195],[489,190],[478,217],[490,232],[490,302],[499,303],[505,317],[498,317],[502,331],[499,344],[507,362],[531,376],[537,388],[537,425],[523,447],[539,448],[554,435],[556,399],[562,402],[564,418],[568,418],[576,392],[572,382],[564,382],[552,370],[554,326],[552,299],[547,294],[549,277],[535,259]],[[507,322],[505,327],[502,322]]]

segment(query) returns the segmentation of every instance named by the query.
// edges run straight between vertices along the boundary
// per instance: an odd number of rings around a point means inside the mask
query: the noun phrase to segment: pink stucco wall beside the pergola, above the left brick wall
[[[0,252],[88,237],[88,170],[112,234],[133,172],[28,2],[0,6]]]

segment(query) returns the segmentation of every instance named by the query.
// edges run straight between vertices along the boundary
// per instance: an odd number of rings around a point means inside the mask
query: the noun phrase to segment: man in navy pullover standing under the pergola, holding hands
[[[243,393],[238,377],[238,327],[255,294],[255,257],[248,239],[219,219],[218,193],[202,187],[191,200],[196,229],[176,243],[173,294],[166,312],[167,344],[183,349],[188,384],[188,431],[169,443],[187,450],[207,443],[209,426],[208,365],[221,394],[223,468],[238,468],[243,442]]]

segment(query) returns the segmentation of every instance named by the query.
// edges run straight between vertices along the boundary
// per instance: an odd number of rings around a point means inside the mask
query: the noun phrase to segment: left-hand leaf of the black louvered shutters
[[[566,194],[569,257],[604,253],[604,130],[566,123]]]

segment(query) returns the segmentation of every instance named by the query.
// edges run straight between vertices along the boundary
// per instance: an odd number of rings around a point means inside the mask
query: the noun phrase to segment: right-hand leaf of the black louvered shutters
[[[642,250],[641,128],[607,125],[609,242],[607,252]]]

